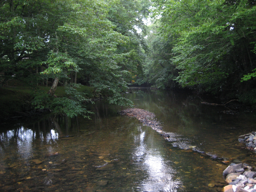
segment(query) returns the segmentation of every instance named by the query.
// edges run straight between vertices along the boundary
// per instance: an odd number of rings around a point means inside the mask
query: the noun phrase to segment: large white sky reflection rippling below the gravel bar
[[[145,131],[141,131],[140,135],[134,138],[137,147],[132,153],[133,160],[138,164],[139,169],[147,170],[147,178],[141,184],[142,190],[177,191],[178,186],[181,186],[181,181],[174,179],[177,171],[168,166],[169,161],[163,158],[159,147],[152,142],[152,138],[148,142],[145,141],[145,134]]]

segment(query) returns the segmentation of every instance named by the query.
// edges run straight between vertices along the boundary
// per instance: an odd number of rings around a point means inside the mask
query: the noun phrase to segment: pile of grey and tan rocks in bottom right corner
[[[256,172],[248,164],[230,164],[224,171],[228,186],[223,192],[256,192]]]

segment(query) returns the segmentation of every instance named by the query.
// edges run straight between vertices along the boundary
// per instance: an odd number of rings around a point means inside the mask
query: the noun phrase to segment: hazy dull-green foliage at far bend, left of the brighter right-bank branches
[[[156,24],[157,25],[157,24]],[[174,79],[178,76],[178,71],[172,63],[172,39],[167,41],[159,36],[156,26],[148,27],[147,44],[149,51],[144,63],[144,76],[138,84],[148,83],[152,87],[160,89],[174,88],[177,83]]]

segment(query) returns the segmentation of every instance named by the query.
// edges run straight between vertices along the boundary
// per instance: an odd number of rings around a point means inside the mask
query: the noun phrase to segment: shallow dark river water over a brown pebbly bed
[[[92,120],[45,116],[1,124],[0,191],[218,191],[229,163],[206,154],[256,166],[256,154],[237,141],[255,131],[255,114],[224,114],[223,106],[201,104],[220,101],[182,92],[126,95],[155,113],[171,137],[102,102],[88,106]]]

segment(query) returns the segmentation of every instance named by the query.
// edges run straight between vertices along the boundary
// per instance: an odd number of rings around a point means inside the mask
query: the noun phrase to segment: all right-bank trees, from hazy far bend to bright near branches
[[[256,103],[255,0],[152,0],[138,84],[187,87]]]

